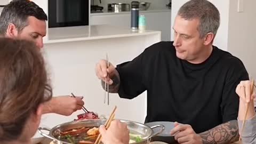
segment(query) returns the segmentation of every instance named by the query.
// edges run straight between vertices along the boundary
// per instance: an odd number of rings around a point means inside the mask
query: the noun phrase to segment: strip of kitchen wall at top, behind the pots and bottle
[[[101,4],[99,0],[94,0],[95,5],[101,5],[104,7],[104,10],[108,9],[109,3],[129,3],[131,4],[133,0],[101,0]],[[137,0],[138,2],[149,2],[151,3],[148,10],[162,10],[166,9],[166,4],[169,4],[169,0]]]

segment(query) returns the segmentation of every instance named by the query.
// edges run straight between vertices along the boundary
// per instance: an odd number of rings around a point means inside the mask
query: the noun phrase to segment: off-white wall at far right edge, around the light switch
[[[241,59],[249,73],[256,78],[256,1],[244,1],[244,12],[237,12],[238,0],[230,0],[228,51]]]

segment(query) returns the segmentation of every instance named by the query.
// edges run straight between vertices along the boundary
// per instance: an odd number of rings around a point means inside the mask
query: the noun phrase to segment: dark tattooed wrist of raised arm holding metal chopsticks
[[[113,84],[109,85],[109,92],[110,93],[117,93],[120,86],[120,76],[118,74],[118,71],[115,70],[114,74],[110,75],[110,79],[112,79]],[[105,82],[101,81],[101,86],[104,89],[105,88]]]

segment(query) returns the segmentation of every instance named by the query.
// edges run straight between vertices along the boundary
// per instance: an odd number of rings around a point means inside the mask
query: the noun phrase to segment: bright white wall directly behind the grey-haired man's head
[[[180,7],[188,2],[189,0],[172,0],[172,27],[174,19],[180,9]],[[234,1],[234,0],[231,0]],[[252,0],[255,1],[255,0]],[[214,40],[214,45],[218,46],[222,50],[227,50],[227,39],[228,39],[228,15],[229,15],[229,1],[215,1],[211,0],[220,12],[220,27],[217,36]],[[173,29],[171,29],[171,40],[173,41]]]

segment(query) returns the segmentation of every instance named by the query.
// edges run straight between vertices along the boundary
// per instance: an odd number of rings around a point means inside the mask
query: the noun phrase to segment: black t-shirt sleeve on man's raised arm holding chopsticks
[[[153,72],[152,63],[155,61],[163,42],[153,44],[145,49],[138,57],[132,61],[117,65],[116,70],[120,76],[119,97],[133,99],[147,90],[149,78]]]

